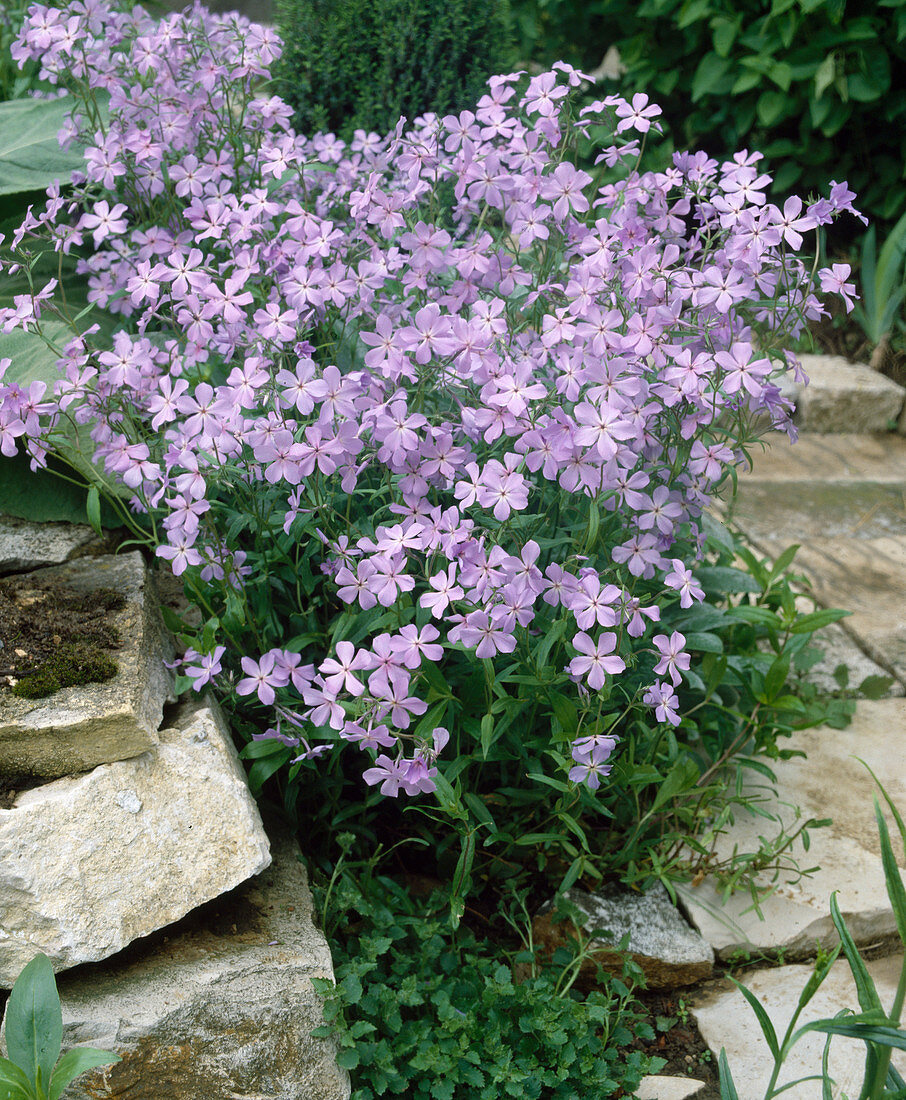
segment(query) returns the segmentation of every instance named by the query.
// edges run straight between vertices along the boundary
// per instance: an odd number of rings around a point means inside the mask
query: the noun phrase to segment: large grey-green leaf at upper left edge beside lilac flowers
[[[73,99],[18,99],[0,103],[0,195],[66,184],[82,166],[82,151],[62,150],[57,134]]]

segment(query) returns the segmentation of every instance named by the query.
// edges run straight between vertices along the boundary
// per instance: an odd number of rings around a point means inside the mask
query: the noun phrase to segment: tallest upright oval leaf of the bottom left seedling
[[[35,955],[20,974],[7,1003],[7,1053],[34,1084],[49,1081],[63,1045],[63,1012],[54,970],[46,955]]]

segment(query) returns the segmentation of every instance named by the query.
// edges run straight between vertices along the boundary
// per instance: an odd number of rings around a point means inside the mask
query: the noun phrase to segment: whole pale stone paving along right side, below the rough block
[[[831,417],[840,426],[846,415]],[[851,418],[849,424],[853,424]],[[858,422],[858,420],[855,421]],[[833,891],[853,937],[870,957],[882,1003],[890,1007],[903,953],[884,889],[877,831],[872,806],[873,782],[854,759],[861,757],[883,780],[894,802],[906,811],[906,439],[886,435],[804,432],[795,446],[771,437],[753,469],[740,477],[739,493],[723,512],[767,557],[791,543],[800,549],[794,570],[807,580],[806,592],[828,607],[852,612],[835,636],[836,652],[852,667],[852,683],[877,668],[895,676],[888,697],[860,701],[850,727],[797,734],[791,748],[806,758],[775,766],[781,814],[793,824],[795,807],[806,816],[831,817],[829,828],[810,834],[804,866],[818,866],[809,878],[791,883],[765,879],[759,912],[745,895],[725,899],[707,879],[682,890],[686,912],[718,959],[780,958],[789,964],[814,958],[818,944],[836,942],[829,902]],[[841,639],[843,639],[841,641]],[[894,851],[902,857],[895,826],[887,815]],[[738,815],[722,838],[730,853],[745,850],[765,823]],[[891,954],[893,953],[893,954]],[[778,1030],[792,1014],[814,964],[772,966],[745,974],[744,983]],[[721,1048],[740,1100],[761,1100],[772,1060],[754,1013],[742,994],[723,979],[707,982],[689,1007],[715,1056]],[[840,960],[803,1022],[858,1010],[848,965]],[[813,1035],[794,1048],[781,1082],[820,1074],[824,1038]],[[902,1052],[894,1064],[906,1072]],[[832,1096],[855,1096],[864,1067],[864,1046],[835,1038],[831,1045]],[[654,1094],[654,1093],[649,1093]],[[820,1081],[796,1085],[792,1100],[818,1100]],[[663,1092],[667,1096],[667,1091]]]

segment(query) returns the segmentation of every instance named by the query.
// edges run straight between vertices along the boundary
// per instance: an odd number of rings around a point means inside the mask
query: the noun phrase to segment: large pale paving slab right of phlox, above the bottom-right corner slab
[[[833,824],[810,831],[808,851],[796,845],[799,866],[819,868],[814,875],[794,883],[782,879],[773,890],[771,876],[761,877],[763,919],[754,912],[748,892],[725,901],[710,878],[696,887],[676,888],[693,925],[721,959],[752,950],[783,952],[785,958],[795,959],[814,955],[816,944],[833,946],[838,937],[830,919],[830,895],[835,890],[857,944],[875,946],[895,938],[872,806],[876,788],[853,758],[861,757],[874,770],[895,805],[906,805],[906,770],[899,767],[904,729],[906,700],[862,700],[849,728],[806,729],[784,740],[784,748],[802,749],[806,759],[772,763],[778,801],[772,799],[771,807],[787,828],[796,827],[796,806],[803,818],[831,817]],[[896,837],[890,816],[888,826]],[[762,817],[738,812],[736,823],[719,838],[717,854],[729,858],[734,847],[740,853],[755,851],[760,836],[777,831]],[[896,840],[894,853],[901,859],[902,851]]]

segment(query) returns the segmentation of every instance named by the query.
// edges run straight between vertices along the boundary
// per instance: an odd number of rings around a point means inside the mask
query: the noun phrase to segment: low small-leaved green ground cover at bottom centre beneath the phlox
[[[336,986],[314,981],[329,1021],[316,1034],[335,1034],[353,1100],[604,1100],[656,1072],[660,1059],[628,1050],[637,1035],[653,1037],[629,979],[562,991],[565,960],[532,977],[521,952],[512,963],[527,974],[515,981],[497,943],[451,928],[440,895],[364,878],[344,872],[328,899],[316,891],[338,924],[328,930]]]

